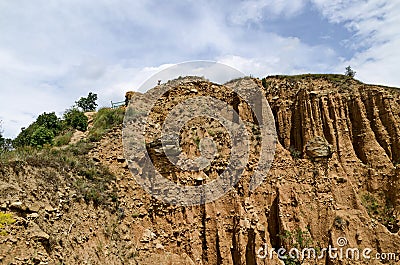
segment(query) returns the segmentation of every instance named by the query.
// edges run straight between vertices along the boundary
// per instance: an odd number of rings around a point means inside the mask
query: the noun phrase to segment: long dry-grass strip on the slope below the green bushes
[[[0,173],[7,168],[18,173],[26,173],[29,168],[43,170],[43,176],[52,168],[63,176],[77,191],[78,199],[93,202],[95,206],[116,203],[116,189],[111,185],[114,174],[100,163],[95,163],[89,152],[92,143],[80,141],[66,148],[46,146],[41,149],[32,146],[17,148],[0,154]],[[57,181],[57,178],[52,178]]]

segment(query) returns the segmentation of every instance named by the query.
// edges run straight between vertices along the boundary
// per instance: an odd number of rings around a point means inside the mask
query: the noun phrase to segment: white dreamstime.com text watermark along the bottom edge
[[[302,249],[291,248],[289,250],[280,247],[270,248],[267,244],[257,250],[259,259],[273,259],[277,257],[281,260],[380,260],[380,261],[400,261],[399,253],[373,253],[371,248],[351,248],[348,246],[348,241],[345,237],[339,237],[336,241],[337,247],[328,245],[327,248],[305,247]]]

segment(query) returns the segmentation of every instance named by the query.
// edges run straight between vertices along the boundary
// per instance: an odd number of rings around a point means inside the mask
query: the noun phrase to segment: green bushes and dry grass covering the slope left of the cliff
[[[124,108],[100,109],[94,115],[88,139],[74,144],[69,144],[74,132],[88,129],[88,117],[84,112],[74,106],[66,110],[62,118],[54,112],[43,113],[28,128],[22,129],[12,141],[12,147],[1,149],[0,173],[12,170],[18,174],[35,168],[42,170],[45,176],[49,169],[54,169],[75,188],[77,199],[93,202],[96,206],[113,205],[112,209],[115,209],[118,204],[116,188],[112,184],[115,176],[107,167],[96,163],[89,153],[94,147],[91,142],[100,140],[111,128],[122,124],[124,111]],[[0,134],[0,144],[5,145],[5,142]]]

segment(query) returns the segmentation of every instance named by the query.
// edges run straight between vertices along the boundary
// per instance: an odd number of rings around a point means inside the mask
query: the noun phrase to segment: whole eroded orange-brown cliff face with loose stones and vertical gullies
[[[40,223],[50,239],[62,239],[62,244],[50,240],[54,245],[42,249],[47,260],[56,263],[62,256],[65,264],[280,264],[276,254],[272,259],[258,257],[259,249],[265,245],[269,250],[281,246],[288,250],[338,247],[338,238],[346,238],[345,247],[371,248],[371,255],[399,251],[399,91],[332,75],[276,76],[255,82],[264,86],[278,140],[272,167],[256,190],[249,190],[245,174],[232,191],[205,205],[178,207],[157,201],[129,172],[123,159],[121,128],[116,128],[97,143],[89,157],[116,175],[113,185],[117,189],[117,210],[94,208],[71,199],[65,217],[51,219],[51,225]],[[198,94],[220,93],[221,99],[237,105],[241,118],[252,121],[251,112],[229,93],[223,93],[224,87],[190,79],[182,80],[181,85]],[[164,106],[179,97],[182,93],[167,95],[156,108],[157,113],[166,115]],[[154,121],[156,124],[157,119]],[[214,171],[208,171],[211,180],[229,156],[228,137],[215,121],[200,127],[196,124],[205,124],[204,120],[191,122],[181,138],[189,156],[198,155],[196,139],[212,136],[220,143],[218,151],[222,155],[213,164]],[[153,138],[148,140],[156,143],[157,137]],[[255,153],[259,150],[256,140],[251,147]],[[251,166],[248,169],[251,171]],[[191,174],[165,171],[165,176],[176,182],[196,180]],[[11,169],[3,172],[8,176],[3,176],[4,183],[18,179],[10,177],[17,174]],[[32,174],[40,178],[35,171]],[[28,198],[30,187],[18,185]],[[4,188],[1,198],[11,202],[18,196]],[[13,211],[10,203],[4,207]],[[45,213],[41,211],[39,219]],[[35,220],[27,221],[32,222]],[[4,239],[1,249],[7,248],[8,252],[0,252],[0,256],[18,264],[13,256],[34,255],[33,248],[39,246],[24,245],[27,235],[18,234],[18,229],[13,231],[14,235],[6,238],[12,237],[17,243]],[[10,247],[12,244],[17,244],[19,250]],[[315,263],[381,262],[325,257],[303,264]]]

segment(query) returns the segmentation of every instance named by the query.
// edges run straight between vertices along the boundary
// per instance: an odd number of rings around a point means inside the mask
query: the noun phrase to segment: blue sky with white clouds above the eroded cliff
[[[176,63],[344,73],[400,87],[400,1],[0,0],[0,120],[15,137],[89,92],[122,101]]]

